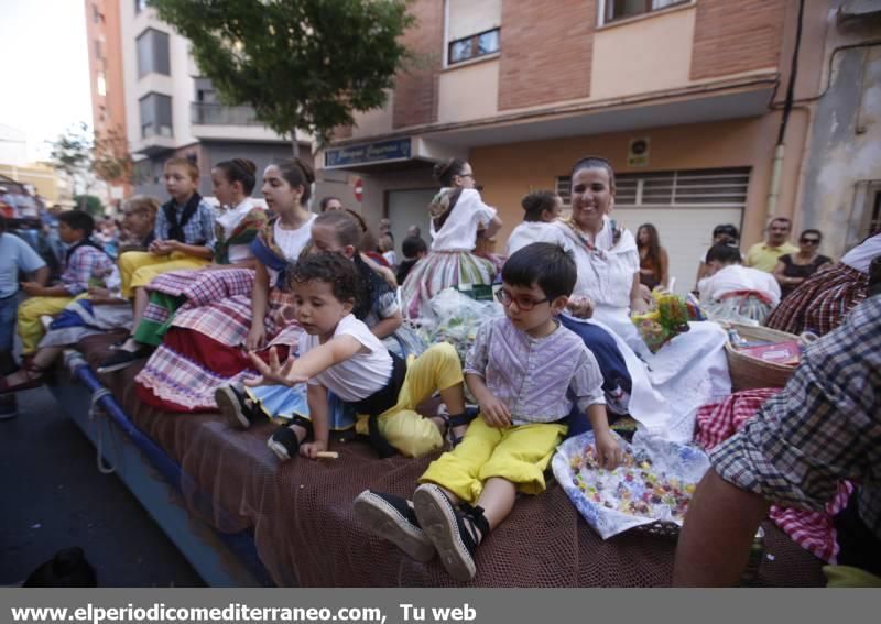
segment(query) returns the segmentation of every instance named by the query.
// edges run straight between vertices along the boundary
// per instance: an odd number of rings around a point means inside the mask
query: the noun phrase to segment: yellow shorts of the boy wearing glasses
[[[482,416],[471,422],[465,439],[428,466],[420,483],[437,483],[468,503],[475,503],[483,483],[500,477],[526,494],[544,492],[544,471],[566,425],[531,423],[496,429]]]

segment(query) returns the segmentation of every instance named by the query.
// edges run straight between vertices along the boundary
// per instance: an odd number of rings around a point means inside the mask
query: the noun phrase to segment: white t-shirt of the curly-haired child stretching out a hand
[[[334,338],[337,336],[351,336],[365,348],[345,362],[315,375],[308,383],[325,386],[347,403],[365,399],[385,387],[392,376],[392,357],[379,338],[351,314],[337,325]],[[319,344],[317,336],[306,335],[300,346],[301,357]]]

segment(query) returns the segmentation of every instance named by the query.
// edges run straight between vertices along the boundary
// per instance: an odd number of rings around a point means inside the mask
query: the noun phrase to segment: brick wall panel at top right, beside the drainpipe
[[[786,0],[698,0],[693,80],[776,67]]]

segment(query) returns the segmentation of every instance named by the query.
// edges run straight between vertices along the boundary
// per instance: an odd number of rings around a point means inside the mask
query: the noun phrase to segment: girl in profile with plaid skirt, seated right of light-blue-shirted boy
[[[221,207],[215,220],[214,262],[200,270],[164,273],[150,282],[150,304],[134,329],[135,342],[159,346],[186,302],[192,307],[251,293],[257,265],[251,243],[267,222],[265,211],[250,198],[255,173],[257,165],[244,158],[225,161],[211,169],[214,194]]]

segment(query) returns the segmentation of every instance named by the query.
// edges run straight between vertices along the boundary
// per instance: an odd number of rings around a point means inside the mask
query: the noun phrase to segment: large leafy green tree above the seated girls
[[[412,0],[151,0],[192,42],[221,101],[250,105],[298,154],[295,129],[326,142],[354,111],[382,107],[410,58]]]

